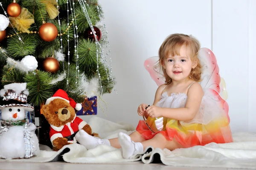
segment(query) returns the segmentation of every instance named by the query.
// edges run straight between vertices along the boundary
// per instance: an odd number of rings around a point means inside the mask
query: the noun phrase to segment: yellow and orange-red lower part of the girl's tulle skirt
[[[210,121],[208,124],[190,123],[163,118],[163,130],[158,131],[155,127],[155,118],[148,116],[146,122],[155,132],[153,133],[144,120],[140,120],[137,125],[139,132],[146,140],[151,139],[157,133],[161,133],[166,140],[176,139],[183,147],[193,147],[195,145],[205,145],[211,142],[229,143],[233,142],[229,121],[226,117],[221,117]]]

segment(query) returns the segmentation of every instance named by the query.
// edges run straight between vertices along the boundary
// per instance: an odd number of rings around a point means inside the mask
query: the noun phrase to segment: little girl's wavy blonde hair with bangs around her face
[[[163,68],[164,59],[166,59],[169,55],[175,56],[180,55],[180,48],[182,46],[186,46],[190,50],[190,58],[192,62],[197,62],[197,66],[191,69],[189,78],[193,81],[200,82],[201,81],[201,72],[202,66],[198,59],[198,51],[201,48],[199,41],[193,37],[192,35],[185,35],[185,34],[172,34],[169,35],[160,46],[158,51],[159,55],[159,66],[160,69],[163,71],[163,75],[166,79],[166,84],[172,83],[172,78],[170,78],[167,73],[166,69]]]

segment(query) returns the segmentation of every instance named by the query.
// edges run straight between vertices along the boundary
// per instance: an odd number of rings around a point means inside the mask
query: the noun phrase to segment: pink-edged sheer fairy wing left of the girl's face
[[[144,61],[144,67],[149,72],[151,78],[157,83],[157,86],[165,84],[163,72],[158,66],[158,57],[151,57]]]

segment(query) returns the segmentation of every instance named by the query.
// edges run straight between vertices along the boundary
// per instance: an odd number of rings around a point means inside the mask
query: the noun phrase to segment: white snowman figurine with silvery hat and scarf
[[[25,118],[26,111],[34,110],[26,105],[26,83],[13,83],[0,90],[3,97],[0,120],[0,158],[30,158],[39,153],[36,126]]]

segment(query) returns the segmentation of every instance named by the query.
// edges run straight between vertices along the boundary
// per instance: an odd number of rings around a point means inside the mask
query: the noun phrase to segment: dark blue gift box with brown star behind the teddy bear
[[[97,96],[92,98],[85,97],[81,105],[82,109],[76,115],[97,115]]]

